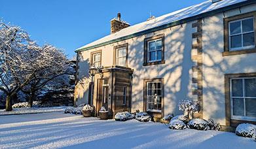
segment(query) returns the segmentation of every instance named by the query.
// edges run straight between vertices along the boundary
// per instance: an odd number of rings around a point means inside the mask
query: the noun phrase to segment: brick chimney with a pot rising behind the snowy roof
[[[121,14],[118,13],[117,18],[113,18],[111,20],[111,34],[117,33],[117,31],[120,31],[121,29],[124,29],[129,26],[130,24],[121,20]]]

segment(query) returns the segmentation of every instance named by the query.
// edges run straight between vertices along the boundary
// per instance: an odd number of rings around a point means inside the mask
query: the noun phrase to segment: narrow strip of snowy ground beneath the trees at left
[[[32,114],[32,113],[45,113],[45,112],[64,112],[67,107],[45,107],[45,108],[13,108],[12,111],[5,111],[5,109],[0,110],[1,115],[10,115],[10,114]],[[0,122],[1,123],[1,122]]]

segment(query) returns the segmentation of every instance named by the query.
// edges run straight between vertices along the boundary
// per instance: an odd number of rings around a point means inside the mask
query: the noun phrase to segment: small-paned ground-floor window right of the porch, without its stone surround
[[[162,82],[147,82],[147,111],[162,112]]]

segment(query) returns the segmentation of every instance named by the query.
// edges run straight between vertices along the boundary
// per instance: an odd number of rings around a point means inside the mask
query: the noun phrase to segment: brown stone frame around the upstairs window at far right
[[[230,48],[230,23],[236,22],[239,20],[245,20],[247,18],[253,18],[253,31],[254,31],[254,46],[240,47],[240,48]],[[256,11],[248,12],[245,14],[238,14],[236,16],[230,16],[228,18],[223,18],[224,24],[224,52],[223,56],[233,56],[237,54],[249,54],[256,52]],[[242,25],[241,25],[242,26]],[[241,35],[242,35],[241,31]]]

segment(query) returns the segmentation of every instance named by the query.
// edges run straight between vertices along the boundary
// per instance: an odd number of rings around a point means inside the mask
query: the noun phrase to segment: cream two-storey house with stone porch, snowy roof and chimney
[[[255,31],[255,0],[205,1],[136,25],[118,14],[110,35],[75,51],[75,105],[162,118],[189,97],[200,102],[194,117],[255,124]]]

